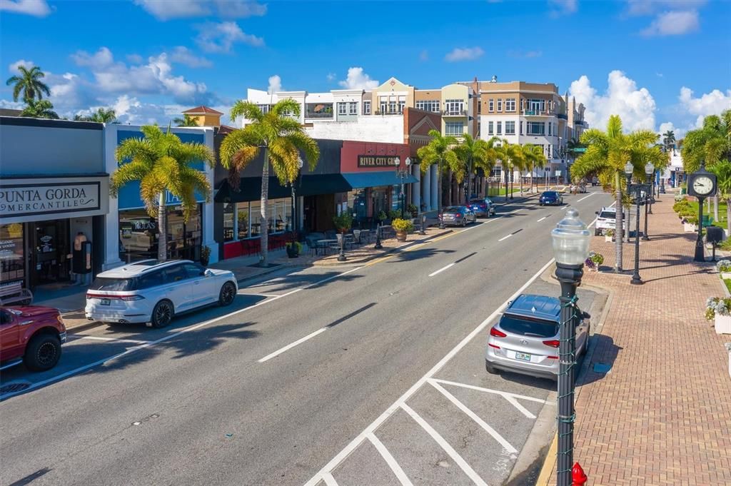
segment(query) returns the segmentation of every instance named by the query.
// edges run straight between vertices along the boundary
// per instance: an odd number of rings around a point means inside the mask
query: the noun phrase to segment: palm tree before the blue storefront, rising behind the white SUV
[[[140,181],[140,198],[145,202],[148,214],[157,216],[159,238],[157,258],[167,259],[167,206],[166,192],[178,197],[183,205],[183,221],[188,221],[197,206],[195,193],[211,197],[211,183],[204,172],[191,167],[195,162],[208,162],[213,167],[216,156],[202,143],[181,142],[170,132],[162,132],[159,126],[143,126],[144,138],[128,138],[116,151],[118,169],[110,178],[110,194],[117,197],[126,183]]]

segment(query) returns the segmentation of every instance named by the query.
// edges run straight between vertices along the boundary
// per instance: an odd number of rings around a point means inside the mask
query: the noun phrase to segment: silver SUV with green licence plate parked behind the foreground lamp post
[[[530,376],[557,379],[558,333],[561,303],[556,297],[523,294],[508,306],[490,330],[485,369],[514,371]],[[589,316],[578,308],[576,356],[586,352],[590,333]]]

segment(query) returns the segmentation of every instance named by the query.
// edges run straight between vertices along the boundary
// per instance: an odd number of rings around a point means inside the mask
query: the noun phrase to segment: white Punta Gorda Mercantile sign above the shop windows
[[[0,186],[0,219],[99,208],[98,182]]]

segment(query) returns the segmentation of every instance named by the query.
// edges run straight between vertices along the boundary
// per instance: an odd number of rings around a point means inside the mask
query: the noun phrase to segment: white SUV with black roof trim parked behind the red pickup
[[[175,314],[212,303],[230,305],[237,292],[228,270],[189,260],[143,260],[99,273],[86,292],[84,310],[93,321],[165,327]]]

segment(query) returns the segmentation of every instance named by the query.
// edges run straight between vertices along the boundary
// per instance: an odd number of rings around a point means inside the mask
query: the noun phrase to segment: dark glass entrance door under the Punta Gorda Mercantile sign
[[[31,285],[68,281],[69,220],[31,223]]]

